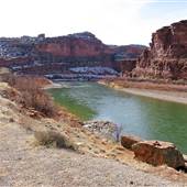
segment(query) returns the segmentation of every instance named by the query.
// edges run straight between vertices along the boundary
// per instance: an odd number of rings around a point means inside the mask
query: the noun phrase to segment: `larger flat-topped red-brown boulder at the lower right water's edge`
[[[132,145],[135,158],[154,166],[167,165],[173,168],[185,167],[183,154],[173,143],[143,141]]]

